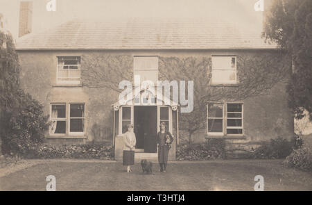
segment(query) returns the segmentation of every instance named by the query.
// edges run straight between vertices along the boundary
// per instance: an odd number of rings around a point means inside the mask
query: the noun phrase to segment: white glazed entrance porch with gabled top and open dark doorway
[[[144,92],[142,90],[141,92]],[[139,93],[141,95],[141,92]],[[128,104],[121,105],[119,101],[113,105],[114,108],[114,158],[121,161],[123,156],[123,136],[128,131],[128,124],[133,124],[137,139],[135,146],[135,161],[148,159],[157,161],[157,133],[159,125],[164,122],[169,132],[173,135],[173,145],[169,151],[169,160],[175,160],[175,147],[178,143],[178,111],[177,105],[170,101],[170,104],[163,105],[163,99],[157,98],[160,95],[149,95],[153,101],[150,103],[135,103],[139,97],[133,97]],[[154,98],[155,96],[155,98]],[[162,102],[162,104],[159,103]]]

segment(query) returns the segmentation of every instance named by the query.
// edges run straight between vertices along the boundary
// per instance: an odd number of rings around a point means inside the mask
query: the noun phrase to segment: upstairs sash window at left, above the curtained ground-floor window
[[[58,83],[80,83],[80,56],[58,56]]]

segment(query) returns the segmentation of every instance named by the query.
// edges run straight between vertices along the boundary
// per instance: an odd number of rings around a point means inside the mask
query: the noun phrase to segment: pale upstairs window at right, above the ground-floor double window
[[[236,84],[236,56],[212,56],[211,84]]]

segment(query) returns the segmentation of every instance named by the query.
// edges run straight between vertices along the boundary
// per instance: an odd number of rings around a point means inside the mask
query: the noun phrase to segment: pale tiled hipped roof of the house
[[[239,25],[239,24],[237,24]],[[17,49],[274,49],[260,30],[211,19],[75,19],[17,40]]]

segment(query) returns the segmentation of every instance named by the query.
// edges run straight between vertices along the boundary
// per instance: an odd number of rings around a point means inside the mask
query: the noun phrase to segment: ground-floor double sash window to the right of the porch
[[[209,136],[243,134],[243,104],[208,104],[207,134]]]

